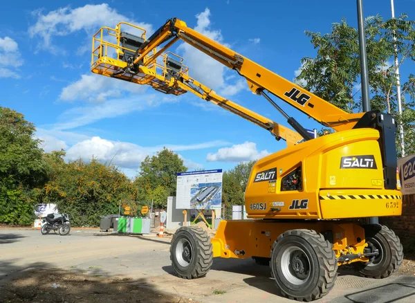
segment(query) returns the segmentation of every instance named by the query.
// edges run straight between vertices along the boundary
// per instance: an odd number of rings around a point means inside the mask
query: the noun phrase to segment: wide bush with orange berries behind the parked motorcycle
[[[64,156],[63,150],[44,155],[50,174],[42,201],[57,204],[74,226],[98,226],[100,216],[118,214],[120,201],[136,199],[133,184],[118,167],[95,159],[65,163]]]

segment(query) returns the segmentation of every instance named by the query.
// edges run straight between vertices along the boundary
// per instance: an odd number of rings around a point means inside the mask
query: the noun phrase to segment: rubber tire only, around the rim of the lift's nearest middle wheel
[[[282,271],[282,255],[293,246],[301,248],[308,258],[309,276],[303,284],[289,282]],[[334,286],[338,263],[333,244],[315,230],[287,230],[274,242],[270,257],[271,275],[288,299],[309,302],[323,297]]]

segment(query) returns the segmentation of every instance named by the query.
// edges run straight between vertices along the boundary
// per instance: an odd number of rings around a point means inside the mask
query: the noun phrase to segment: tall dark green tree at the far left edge
[[[35,126],[17,111],[0,107],[0,222],[28,225],[47,178]]]

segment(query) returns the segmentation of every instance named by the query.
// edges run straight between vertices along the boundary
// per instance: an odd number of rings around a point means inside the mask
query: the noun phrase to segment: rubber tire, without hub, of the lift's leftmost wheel
[[[181,266],[176,256],[176,248],[181,239],[187,241],[192,249],[190,262],[187,266]],[[181,227],[173,235],[170,246],[170,260],[174,271],[183,279],[196,279],[204,277],[213,264],[212,244],[210,237],[201,228]]]

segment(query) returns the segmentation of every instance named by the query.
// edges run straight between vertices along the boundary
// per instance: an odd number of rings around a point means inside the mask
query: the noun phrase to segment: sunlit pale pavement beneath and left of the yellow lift
[[[169,239],[77,232],[61,237],[38,230],[0,230],[0,292],[28,268],[62,268],[95,277],[124,277],[162,293],[199,302],[292,302],[279,296],[268,266],[251,259],[215,259],[202,279],[179,279],[169,260]],[[222,293],[214,295],[214,293]],[[375,280],[340,273],[318,302],[415,302],[415,277]]]

